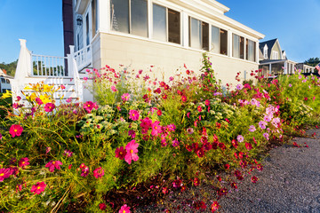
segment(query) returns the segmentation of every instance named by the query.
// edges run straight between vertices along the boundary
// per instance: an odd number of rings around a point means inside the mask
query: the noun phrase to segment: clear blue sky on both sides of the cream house
[[[0,0],[0,63],[19,57],[19,38],[29,51],[63,55],[62,0]],[[289,59],[320,57],[320,0],[218,0],[226,15],[278,38]],[[262,40],[262,41],[264,41]]]

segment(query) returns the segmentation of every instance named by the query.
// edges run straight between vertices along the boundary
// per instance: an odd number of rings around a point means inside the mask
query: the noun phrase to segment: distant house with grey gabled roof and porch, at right
[[[259,49],[262,75],[294,74],[296,69],[301,69],[303,73],[313,72],[314,67],[288,59],[277,38],[261,42]]]

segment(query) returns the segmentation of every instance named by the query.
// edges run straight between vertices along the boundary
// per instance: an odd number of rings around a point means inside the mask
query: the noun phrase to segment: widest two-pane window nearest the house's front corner
[[[111,0],[111,29],[136,36],[148,36],[147,0]]]

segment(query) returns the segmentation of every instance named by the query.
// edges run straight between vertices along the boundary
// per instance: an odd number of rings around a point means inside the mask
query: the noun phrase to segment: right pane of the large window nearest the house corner
[[[132,34],[148,37],[147,0],[131,0]]]

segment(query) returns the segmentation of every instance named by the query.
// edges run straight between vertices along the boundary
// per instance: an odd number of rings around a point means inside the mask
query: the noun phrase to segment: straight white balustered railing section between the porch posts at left
[[[68,76],[65,63],[67,57],[54,57],[31,54],[32,76]]]

